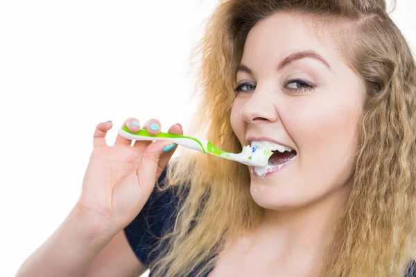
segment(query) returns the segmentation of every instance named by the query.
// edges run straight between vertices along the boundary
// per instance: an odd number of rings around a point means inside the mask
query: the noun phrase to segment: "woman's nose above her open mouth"
[[[270,96],[270,91],[268,92],[266,88],[261,89],[258,86],[248,96],[248,100],[241,108],[241,116],[243,116],[246,122],[251,124],[275,123],[279,120],[279,116],[274,102],[272,96]]]

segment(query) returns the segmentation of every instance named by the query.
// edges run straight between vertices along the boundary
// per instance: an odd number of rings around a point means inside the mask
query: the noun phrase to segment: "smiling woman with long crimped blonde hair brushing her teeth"
[[[416,71],[385,1],[221,1],[199,50],[190,134],[290,151],[163,170],[171,143],[109,147],[100,123],[78,203],[18,276],[412,276]]]

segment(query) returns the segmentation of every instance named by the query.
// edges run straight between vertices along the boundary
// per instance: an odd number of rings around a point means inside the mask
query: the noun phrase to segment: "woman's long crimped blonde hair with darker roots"
[[[201,93],[189,134],[241,151],[230,124],[236,69],[250,29],[280,11],[343,28],[338,51],[367,89],[352,193],[320,276],[404,276],[416,256],[416,68],[384,0],[220,1],[194,53]],[[242,164],[183,150],[168,168],[168,183],[182,200],[150,264],[155,276],[187,276],[196,269],[204,276],[225,240],[259,225],[263,209],[250,195]]]

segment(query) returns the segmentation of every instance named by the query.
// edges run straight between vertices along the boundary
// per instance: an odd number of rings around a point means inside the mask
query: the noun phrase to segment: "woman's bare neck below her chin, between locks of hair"
[[[345,184],[319,201],[291,210],[265,210],[252,245],[267,247],[267,255],[287,265],[317,269],[349,193],[352,183]],[[264,249],[263,248],[263,249]]]

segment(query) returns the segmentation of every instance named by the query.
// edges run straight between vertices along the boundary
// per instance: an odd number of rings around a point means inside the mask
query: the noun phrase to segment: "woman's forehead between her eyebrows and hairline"
[[[259,21],[248,33],[242,62],[275,64],[297,51],[313,50],[329,64],[341,62],[333,27],[317,17],[279,12]],[[327,27],[325,27],[327,26]]]

